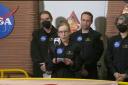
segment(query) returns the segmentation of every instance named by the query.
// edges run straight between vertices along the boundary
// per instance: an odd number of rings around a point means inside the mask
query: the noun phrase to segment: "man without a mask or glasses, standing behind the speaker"
[[[73,33],[71,39],[82,46],[82,54],[78,60],[82,65],[81,78],[97,79],[97,62],[104,48],[101,34],[90,27],[92,22],[93,15],[88,11],[83,12],[81,29]]]

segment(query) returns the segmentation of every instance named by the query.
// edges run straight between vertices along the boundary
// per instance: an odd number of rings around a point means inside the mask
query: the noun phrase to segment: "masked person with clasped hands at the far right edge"
[[[119,35],[108,40],[106,52],[108,79],[128,81],[128,14],[119,16],[116,27]]]

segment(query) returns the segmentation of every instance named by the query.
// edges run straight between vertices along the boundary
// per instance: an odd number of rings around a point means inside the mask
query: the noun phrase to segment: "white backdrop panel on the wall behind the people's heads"
[[[83,11],[90,11],[96,17],[106,17],[108,1],[44,1],[44,9],[53,15],[53,25],[58,16],[68,18],[74,10],[79,21]],[[92,28],[95,29],[94,22]]]

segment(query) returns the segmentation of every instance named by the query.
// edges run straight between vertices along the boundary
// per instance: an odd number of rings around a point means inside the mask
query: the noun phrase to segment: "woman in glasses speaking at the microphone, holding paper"
[[[49,50],[48,70],[52,78],[75,78],[77,67],[76,58],[80,56],[79,44],[70,40],[70,26],[67,21],[58,25],[58,37],[54,39]],[[48,60],[48,61],[49,61]]]

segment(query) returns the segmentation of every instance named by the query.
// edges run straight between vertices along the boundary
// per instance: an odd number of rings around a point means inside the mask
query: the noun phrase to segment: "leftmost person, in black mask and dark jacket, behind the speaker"
[[[49,11],[40,13],[40,29],[34,30],[31,41],[31,57],[34,77],[42,77],[46,71],[45,60],[48,56],[49,44],[57,36],[57,29],[52,25],[52,15]]]

